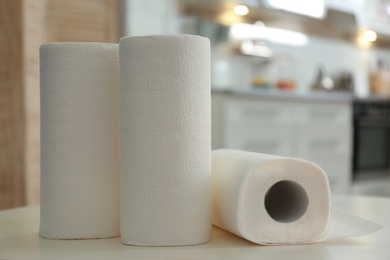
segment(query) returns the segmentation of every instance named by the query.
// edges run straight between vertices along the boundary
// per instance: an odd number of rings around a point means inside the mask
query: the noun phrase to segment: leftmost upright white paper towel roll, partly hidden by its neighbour
[[[44,44],[40,66],[40,235],[119,236],[118,44]]]

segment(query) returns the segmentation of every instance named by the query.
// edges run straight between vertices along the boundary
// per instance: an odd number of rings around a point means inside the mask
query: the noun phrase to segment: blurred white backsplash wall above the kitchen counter
[[[318,68],[323,66],[330,76],[340,71],[351,71],[354,76],[355,93],[366,95],[369,89],[369,72],[370,69],[375,68],[377,55],[388,53],[388,50],[362,49],[351,42],[314,36],[309,36],[306,46],[276,43],[267,43],[267,45],[277,55],[288,54],[293,57],[294,62],[290,67],[295,75],[296,88],[299,92],[306,92],[310,89]],[[213,46],[212,57],[214,87],[251,87],[252,64],[256,58],[229,51],[228,44],[224,43]],[[218,69],[221,61],[227,64],[225,72]],[[268,73],[271,81],[277,77],[276,67],[276,63],[271,60]]]

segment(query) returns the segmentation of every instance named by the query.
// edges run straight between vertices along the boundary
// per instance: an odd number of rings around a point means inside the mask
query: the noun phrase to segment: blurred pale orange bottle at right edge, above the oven
[[[378,58],[370,75],[370,94],[390,96],[390,69],[384,58]]]

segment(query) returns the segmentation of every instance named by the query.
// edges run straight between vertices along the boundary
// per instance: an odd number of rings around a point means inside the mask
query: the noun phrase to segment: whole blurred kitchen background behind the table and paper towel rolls
[[[39,204],[39,45],[198,34],[213,149],[311,160],[390,196],[390,0],[0,1],[0,209]]]

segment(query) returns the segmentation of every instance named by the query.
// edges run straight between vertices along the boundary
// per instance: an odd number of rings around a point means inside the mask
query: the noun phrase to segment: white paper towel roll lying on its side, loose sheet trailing
[[[216,150],[212,164],[213,224],[254,243],[310,243],[380,227],[339,211],[331,215],[326,174],[311,162]]]

